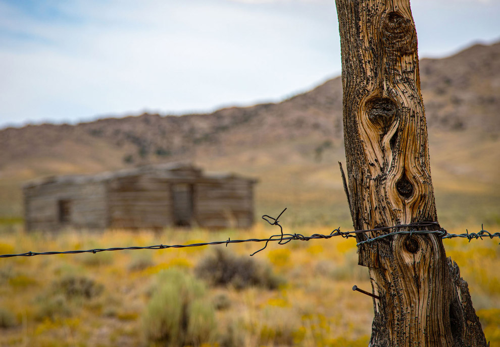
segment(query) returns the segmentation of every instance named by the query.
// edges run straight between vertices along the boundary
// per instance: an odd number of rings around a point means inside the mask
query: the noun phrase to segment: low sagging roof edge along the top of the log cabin
[[[191,171],[189,175],[186,175],[186,171]],[[141,165],[133,168],[126,168],[116,171],[106,171],[94,175],[64,175],[64,176],[48,176],[35,180],[28,181],[24,184],[23,188],[30,188],[48,184],[84,184],[84,183],[95,183],[95,182],[105,182],[111,181],[119,178],[133,177],[133,176],[154,176],[165,179],[232,179],[239,178],[243,180],[252,181],[256,183],[257,180],[242,177],[232,172],[206,172],[197,166],[194,166],[191,162],[178,161],[162,164],[150,164]]]

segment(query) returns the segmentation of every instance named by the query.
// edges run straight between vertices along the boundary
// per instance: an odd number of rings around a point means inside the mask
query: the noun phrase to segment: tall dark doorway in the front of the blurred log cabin
[[[191,226],[194,213],[193,185],[176,183],[172,185],[174,225]]]

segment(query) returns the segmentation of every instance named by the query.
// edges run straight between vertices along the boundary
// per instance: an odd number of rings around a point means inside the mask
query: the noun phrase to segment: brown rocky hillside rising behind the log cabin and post
[[[469,210],[474,222],[500,219],[494,208],[500,203],[500,43],[423,59],[420,76],[438,205],[453,211],[445,218]],[[27,179],[191,159],[260,178],[258,212],[286,205],[300,210],[297,223],[348,219],[336,167],[344,160],[339,77],[279,103],[210,114],[8,128],[0,131],[0,146],[4,216],[22,213],[19,185]]]

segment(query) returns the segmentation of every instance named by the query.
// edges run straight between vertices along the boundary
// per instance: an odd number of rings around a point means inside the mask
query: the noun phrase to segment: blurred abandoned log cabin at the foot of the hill
[[[248,228],[256,183],[190,163],[49,177],[23,186],[26,229]]]

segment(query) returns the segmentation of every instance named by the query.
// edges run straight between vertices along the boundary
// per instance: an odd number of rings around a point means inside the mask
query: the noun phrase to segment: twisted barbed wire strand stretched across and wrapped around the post
[[[254,256],[255,254],[265,250],[269,244],[269,242],[278,242],[278,245],[285,245],[289,243],[292,240],[298,240],[298,241],[309,241],[309,240],[318,240],[318,239],[331,239],[333,237],[340,236],[344,239],[348,238],[356,238],[356,234],[362,234],[362,233],[367,233],[367,232],[383,232],[385,230],[390,230],[390,229],[397,229],[397,228],[411,228],[410,230],[397,230],[395,232],[387,233],[387,234],[382,234],[379,236],[376,236],[374,238],[368,238],[367,240],[363,240],[357,243],[357,246],[366,244],[366,243],[372,243],[375,241],[378,241],[383,238],[387,238],[390,236],[394,235],[404,235],[404,234],[410,234],[410,236],[415,235],[415,234],[421,234],[421,235],[426,235],[426,234],[436,234],[436,236],[440,237],[441,239],[453,239],[453,238],[466,238],[471,242],[471,240],[477,240],[477,239],[483,239],[483,238],[500,238],[500,233],[493,233],[491,234],[487,230],[484,230],[483,225],[481,224],[481,230],[478,233],[469,233],[469,230],[466,229],[466,234],[448,234],[448,232],[444,229],[439,227],[439,224],[437,222],[422,222],[422,223],[411,223],[411,224],[398,224],[394,226],[384,226],[384,227],[377,227],[373,229],[363,229],[363,230],[354,230],[352,232],[341,232],[340,227],[332,230],[332,232],[328,235],[323,235],[323,234],[313,234],[311,236],[304,236],[302,234],[286,234],[283,233],[283,226],[279,223],[279,218],[281,215],[286,211],[286,208],[281,211],[281,213],[276,217],[271,217],[267,214],[262,216],[262,219],[264,219],[266,222],[268,222],[271,225],[276,225],[280,228],[280,234],[272,235],[267,239],[246,239],[246,240],[231,240],[228,238],[226,241],[214,241],[214,242],[200,242],[200,243],[195,243],[195,244],[189,244],[189,245],[156,245],[156,246],[132,246],[132,247],[113,247],[113,248],[94,248],[94,249],[89,249],[89,250],[79,250],[79,251],[63,251],[63,252],[57,252],[57,251],[52,251],[52,252],[26,252],[26,253],[19,253],[19,254],[3,254],[0,255],[0,258],[11,258],[11,257],[32,257],[35,255],[54,255],[54,254],[78,254],[78,253],[100,253],[100,252],[106,252],[106,251],[123,251],[123,250],[143,250],[143,249],[149,249],[149,250],[161,250],[161,249],[168,249],[168,248],[187,248],[187,247],[201,247],[201,246],[211,246],[211,245],[223,245],[226,244],[226,247],[228,244],[235,244],[235,243],[244,243],[244,242],[265,242],[264,247],[261,249],[255,251],[252,253],[250,256]],[[437,226],[439,227],[438,230],[417,230],[415,228],[417,227],[431,227],[431,226]],[[500,245],[500,243],[499,243]]]

